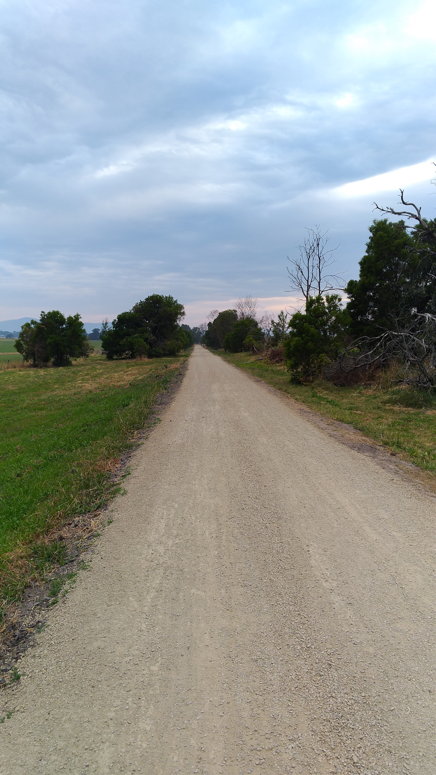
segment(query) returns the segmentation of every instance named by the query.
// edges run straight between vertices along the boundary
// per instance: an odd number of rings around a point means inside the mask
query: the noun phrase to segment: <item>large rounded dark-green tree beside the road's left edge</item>
[[[147,296],[102,333],[103,350],[109,359],[176,355],[189,346],[189,337],[178,325],[184,316],[183,305],[172,296]]]

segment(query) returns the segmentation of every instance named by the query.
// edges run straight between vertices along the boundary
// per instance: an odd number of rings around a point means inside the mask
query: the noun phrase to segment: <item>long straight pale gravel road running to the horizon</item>
[[[196,346],[0,773],[434,775],[434,506]]]

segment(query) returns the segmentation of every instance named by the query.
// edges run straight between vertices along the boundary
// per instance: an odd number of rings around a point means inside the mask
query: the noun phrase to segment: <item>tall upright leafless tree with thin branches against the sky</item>
[[[339,245],[327,248],[330,237],[324,234],[320,226],[306,229],[307,236],[303,245],[299,245],[299,257],[288,261],[288,274],[291,279],[291,290],[300,291],[307,302],[310,296],[321,296],[329,291],[343,291],[340,274],[327,274],[327,269],[334,263],[333,253]]]

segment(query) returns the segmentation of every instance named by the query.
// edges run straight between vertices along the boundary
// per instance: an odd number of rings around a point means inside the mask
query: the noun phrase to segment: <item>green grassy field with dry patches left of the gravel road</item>
[[[71,366],[3,367],[0,372],[0,616],[19,598],[47,533],[102,507],[116,490],[111,473],[147,425],[157,394],[186,355]],[[53,560],[62,554],[55,546]]]

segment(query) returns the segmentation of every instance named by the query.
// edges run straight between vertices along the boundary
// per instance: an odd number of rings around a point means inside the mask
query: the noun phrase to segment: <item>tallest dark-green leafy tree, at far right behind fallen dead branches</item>
[[[353,336],[379,336],[407,325],[412,310],[423,312],[434,294],[434,281],[403,220],[375,220],[369,232],[359,278],[345,288]]]

